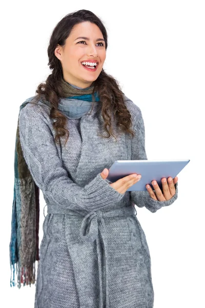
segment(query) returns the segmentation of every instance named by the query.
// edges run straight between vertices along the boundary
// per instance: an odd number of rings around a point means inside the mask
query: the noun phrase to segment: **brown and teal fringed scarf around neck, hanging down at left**
[[[88,88],[79,88],[71,85],[62,78],[61,84],[64,97],[92,102],[94,85]],[[95,101],[99,101],[98,93],[94,93]],[[62,100],[63,101],[63,100]],[[26,100],[19,107],[19,112],[29,103]],[[73,106],[75,107],[75,106]],[[88,106],[89,107],[89,106]],[[68,106],[67,106],[68,108]],[[59,108],[60,110],[60,108]],[[72,109],[74,112],[75,109]],[[85,114],[85,113],[83,113]],[[34,284],[35,261],[39,261],[39,187],[35,184],[24,158],[19,138],[19,113],[16,129],[14,151],[14,190],[11,219],[10,286],[17,287],[23,284]]]

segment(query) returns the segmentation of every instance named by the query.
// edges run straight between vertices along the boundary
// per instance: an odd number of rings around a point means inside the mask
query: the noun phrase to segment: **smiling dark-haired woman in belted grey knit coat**
[[[53,71],[19,113],[24,158],[48,206],[35,308],[153,307],[134,204],[153,213],[172,204],[178,179],[165,179],[163,193],[154,183],[155,192],[127,191],[140,181],[133,175],[106,179],[116,160],[147,159],[141,111],[103,69],[107,46],[95,14],[66,15],[50,38]]]

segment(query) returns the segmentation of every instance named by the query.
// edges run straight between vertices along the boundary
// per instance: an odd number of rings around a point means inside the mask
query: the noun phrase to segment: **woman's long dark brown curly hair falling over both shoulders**
[[[48,58],[49,68],[52,73],[48,76],[45,83],[40,83],[35,91],[37,93],[32,100],[35,103],[39,100],[46,99],[51,104],[51,110],[49,117],[55,119],[53,128],[56,132],[55,142],[60,142],[60,137],[64,137],[67,134],[66,143],[69,138],[69,131],[66,129],[68,119],[66,116],[58,110],[58,102],[63,97],[63,88],[61,86],[61,79],[63,78],[63,69],[60,61],[54,54],[55,48],[59,44],[64,47],[66,39],[70,35],[73,26],[82,22],[91,22],[96,24],[105,40],[105,48],[108,47],[108,35],[105,26],[100,19],[89,10],[78,10],[67,14],[63,17],[55,26],[48,46]],[[135,132],[130,129],[132,126],[131,114],[125,105],[123,92],[120,90],[119,83],[113,78],[113,76],[107,74],[104,69],[101,70],[98,78],[93,82],[94,89],[92,93],[92,101],[94,103],[94,92],[98,92],[98,97],[101,105],[101,115],[104,120],[104,129],[108,133],[108,136],[101,136],[103,138],[109,138],[113,134],[111,117],[113,117],[117,128],[121,128],[122,131],[132,134],[134,137]],[[32,103],[32,102],[31,102]],[[92,108],[93,108],[92,103]],[[108,126],[108,128],[107,128]],[[115,138],[116,139],[116,138]],[[65,144],[66,144],[65,143]]]

